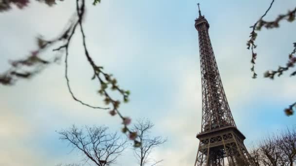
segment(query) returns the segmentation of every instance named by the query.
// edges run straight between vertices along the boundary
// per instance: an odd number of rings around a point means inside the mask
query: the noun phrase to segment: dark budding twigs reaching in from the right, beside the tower
[[[276,19],[272,21],[266,21],[263,18],[267,15],[271,7],[273,6],[275,0],[272,0],[268,9],[265,11],[265,13],[260,17],[256,23],[251,26],[250,28],[252,29],[252,32],[250,33],[250,39],[247,41],[247,49],[251,50],[252,52],[252,67],[251,71],[253,72],[253,78],[257,78],[257,73],[255,71],[255,63],[257,59],[257,53],[255,52],[255,49],[257,48],[258,45],[256,45],[255,41],[258,36],[258,32],[262,30],[263,28],[266,29],[274,29],[279,27],[279,22],[286,20],[288,22],[293,22],[295,21],[296,18],[296,7],[292,10],[289,10],[287,13],[280,14],[277,16]],[[257,33],[256,33],[257,32]],[[292,51],[289,51],[290,53],[287,53],[288,55],[288,62],[286,63],[285,66],[279,66],[276,70],[269,70],[264,73],[265,78],[270,78],[274,79],[275,76],[277,75],[278,77],[281,76],[284,72],[287,70],[293,68],[296,65],[296,42],[293,43],[293,49]],[[296,76],[296,70],[293,71],[290,76]],[[296,102],[292,103],[291,105],[288,106],[288,108],[284,109],[284,112],[287,116],[291,116],[294,114],[294,110],[296,109]]]

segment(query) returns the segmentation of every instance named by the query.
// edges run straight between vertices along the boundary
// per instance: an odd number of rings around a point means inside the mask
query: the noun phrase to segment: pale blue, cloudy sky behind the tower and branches
[[[283,21],[280,29],[259,32],[258,79],[251,78],[251,54],[246,49],[249,27],[270,0],[102,0],[97,6],[89,1],[84,26],[91,55],[121,87],[130,90],[130,102],[121,105],[120,111],[132,122],[150,119],[155,124],[151,134],[167,138],[151,154],[155,160],[164,159],[160,166],[192,166],[198,149],[195,135],[201,130],[202,92],[194,27],[197,2],[210,24],[224,91],[247,148],[267,134],[296,125],[295,116],[283,113],[295,101],[296,78],[289,77],[289,72],[273,81],[263,78],[266,70],[286,64],[295,42],[295,22]],[[295,0],[276,0],[266,19],[273,20],[295,6]],[[23,10],[0,13],[0,73],[9,67],[8,60],[37,48],[37,35],[59,34],[74,9],[74,0],[54,7],[32,1]],[[44,53],[45,58],[50,55],[51,51]],[[79,33],[70,47],[69,77],[76,96],[104,105],[96,94],[98,85],[90,80],[92,70]],[[59,140],[56,131],[73,124],[106,125],[110,132],[122,127],[118,117],[71,98],[63,63],[49,66],[31,80],[0,85],[0,105],[1,166],[80,162],[81,154]],[[137,166],[131,148],[114,166]]]

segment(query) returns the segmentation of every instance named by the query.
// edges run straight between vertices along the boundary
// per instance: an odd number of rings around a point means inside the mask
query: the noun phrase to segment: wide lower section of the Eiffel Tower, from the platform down
[[[245,136],[235,126],[199,133],[194,166],[255,166],[243,144]]]

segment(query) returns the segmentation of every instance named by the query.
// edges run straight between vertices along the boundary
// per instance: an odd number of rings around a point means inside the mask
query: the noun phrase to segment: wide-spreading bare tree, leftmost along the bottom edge
[[[73,125],[58,133],[61,134],[60,139],[68,141],[80,151],[86,161],[92,161],[96,166],[110,166],[127,148],[127,141],[122,140],[117,133],[107,133],[107,130],[107,127],[96,126],[78,129]]]

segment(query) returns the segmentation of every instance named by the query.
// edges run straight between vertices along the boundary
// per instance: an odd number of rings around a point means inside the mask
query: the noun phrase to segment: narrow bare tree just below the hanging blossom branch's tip
[[[154,124],[148,119],[137,120],[137,123],[133,126],[133,130],[137,131],[138,138],[141,142],[139,148],[135,147],[133,149],[134,156],[140,166],[156,166],[163,161],[155,161],[149,157],[151,151],[155,147],[158,147],[167,141],[166,139],[163,139],[162,136],[149,136],[150,130],[153,126]]]

